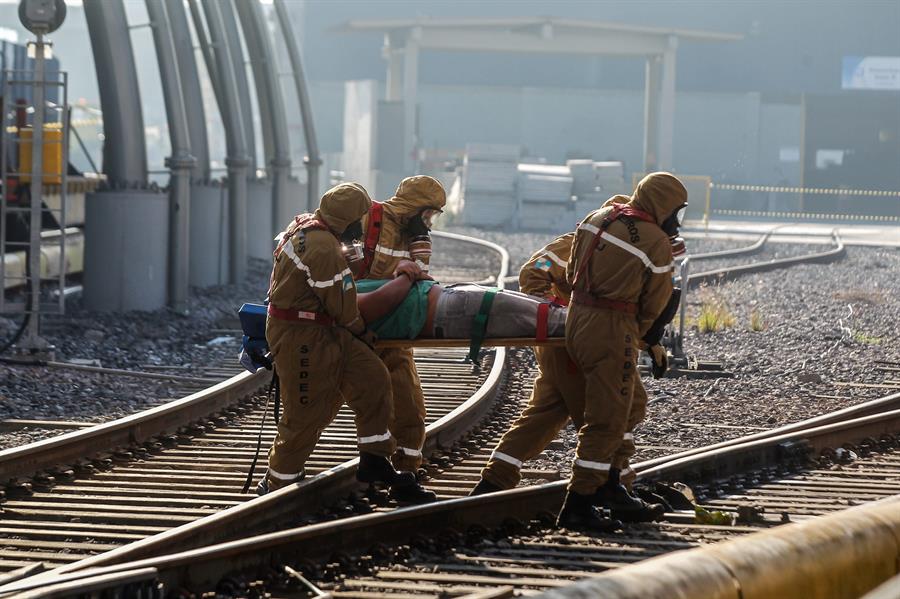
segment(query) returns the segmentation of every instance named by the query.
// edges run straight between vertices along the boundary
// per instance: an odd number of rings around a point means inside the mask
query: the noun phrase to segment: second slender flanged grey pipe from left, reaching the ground
[[[191,0],[195,2],[196,0]],[[203,10],[209,26],[209,47],[212,52],[206,54],[213,62],[207,69],[215,72],[217,83],[216,100],[225,126],[225,145],[227,156],[225,166],[228,167],[228,224],[230,239],[228,244],[229,281],[240,283],[247,275],[247,169],[251,165],[247,155],[247,141],[244,123],[241,119],[241,104],[238,99],[235,82],[235,61],[232,60],[230,46],[225,39],[225,25],[219,0],[204,0]],[[195,18],[199,11],[192,9]],[[198,31],[203,28],[202,19],[195,21]]]

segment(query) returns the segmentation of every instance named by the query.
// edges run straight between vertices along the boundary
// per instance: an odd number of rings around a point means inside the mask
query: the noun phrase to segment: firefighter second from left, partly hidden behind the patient
[[[364,271],[359,278],[389,279],[401,260],[412,260],[428,270],[431,259],[431,219],[447,201],[441,184],[432,177],[419,175],[400,182],[394,197],[373,203],[363,218],[365,250]],[[397,439],[394,465],[399,470],[415,471],[422,463],[425,442],[425,396],[408,348],[378,352],[391,376],[394,392],[394,418],[390,431]],[[411,497],[421,502],[430,497]]]

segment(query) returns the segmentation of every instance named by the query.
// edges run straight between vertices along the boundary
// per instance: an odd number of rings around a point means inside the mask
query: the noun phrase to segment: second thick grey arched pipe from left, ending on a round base
[[[203,91],[194,58],[194,44],[183,0],[165,0],[169,16],[169,32],[175,45],[175,60],[181,80],[181,97],[188,115],[189,148],[196,158],[193,176],[195,180],[209,180],[209,141],[206,137],[206,111],[203,108]]]

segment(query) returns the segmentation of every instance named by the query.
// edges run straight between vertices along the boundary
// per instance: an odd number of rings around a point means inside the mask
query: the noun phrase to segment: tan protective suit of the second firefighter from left
[[[426,208],[440,210],[447,202],[447,194],[437,179],[419,175],[400,182],[394,197],[384,202],[381,233],[364,278],[389,279],[401,260],[411,259],[410,236],[404,231],[409,219]],[[370,214],[370,213],[369,213]],[[368,231],[369,214],[363,218],[363,231]],[[417,260],[428,270],[428,256]],[[394,348],[378,352],[391,375],[394,394],[394,418],[391,434],[397,439],[394,467],[415,470],[422,463],[422,444],[425,442],[425,395],[416,372],[412,349]]]

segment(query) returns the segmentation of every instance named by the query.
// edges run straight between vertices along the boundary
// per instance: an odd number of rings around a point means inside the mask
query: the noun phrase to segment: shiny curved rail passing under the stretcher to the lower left
[[[496,251],[500,255],[499,273],[505,274],[508,271],[509,255],[504,248],[461,235],[438,235],[438,237],[443,236],[455,241],[482,245]],[[479,389],[461,405],[426,428],[423,452],[428,454],[438,448],[449,446],[484,417],[491,408],[502,382],[505,363],[506,350],[498,348],[494,354],[487,379]],[[53,575],[134,560],[162,552],[223,542],[243,534],[278,528],[279,524],[283,526],[285,521],[290,521],[298,513],[315,512],[340,500],[357,488],[358,483],[355,477],[357,465],[358,459],[352,459],[263,497],[252,499],[117,549],[61,566],[52,571]],[[41,578],[43,577],[44,575],[41,576]]]

